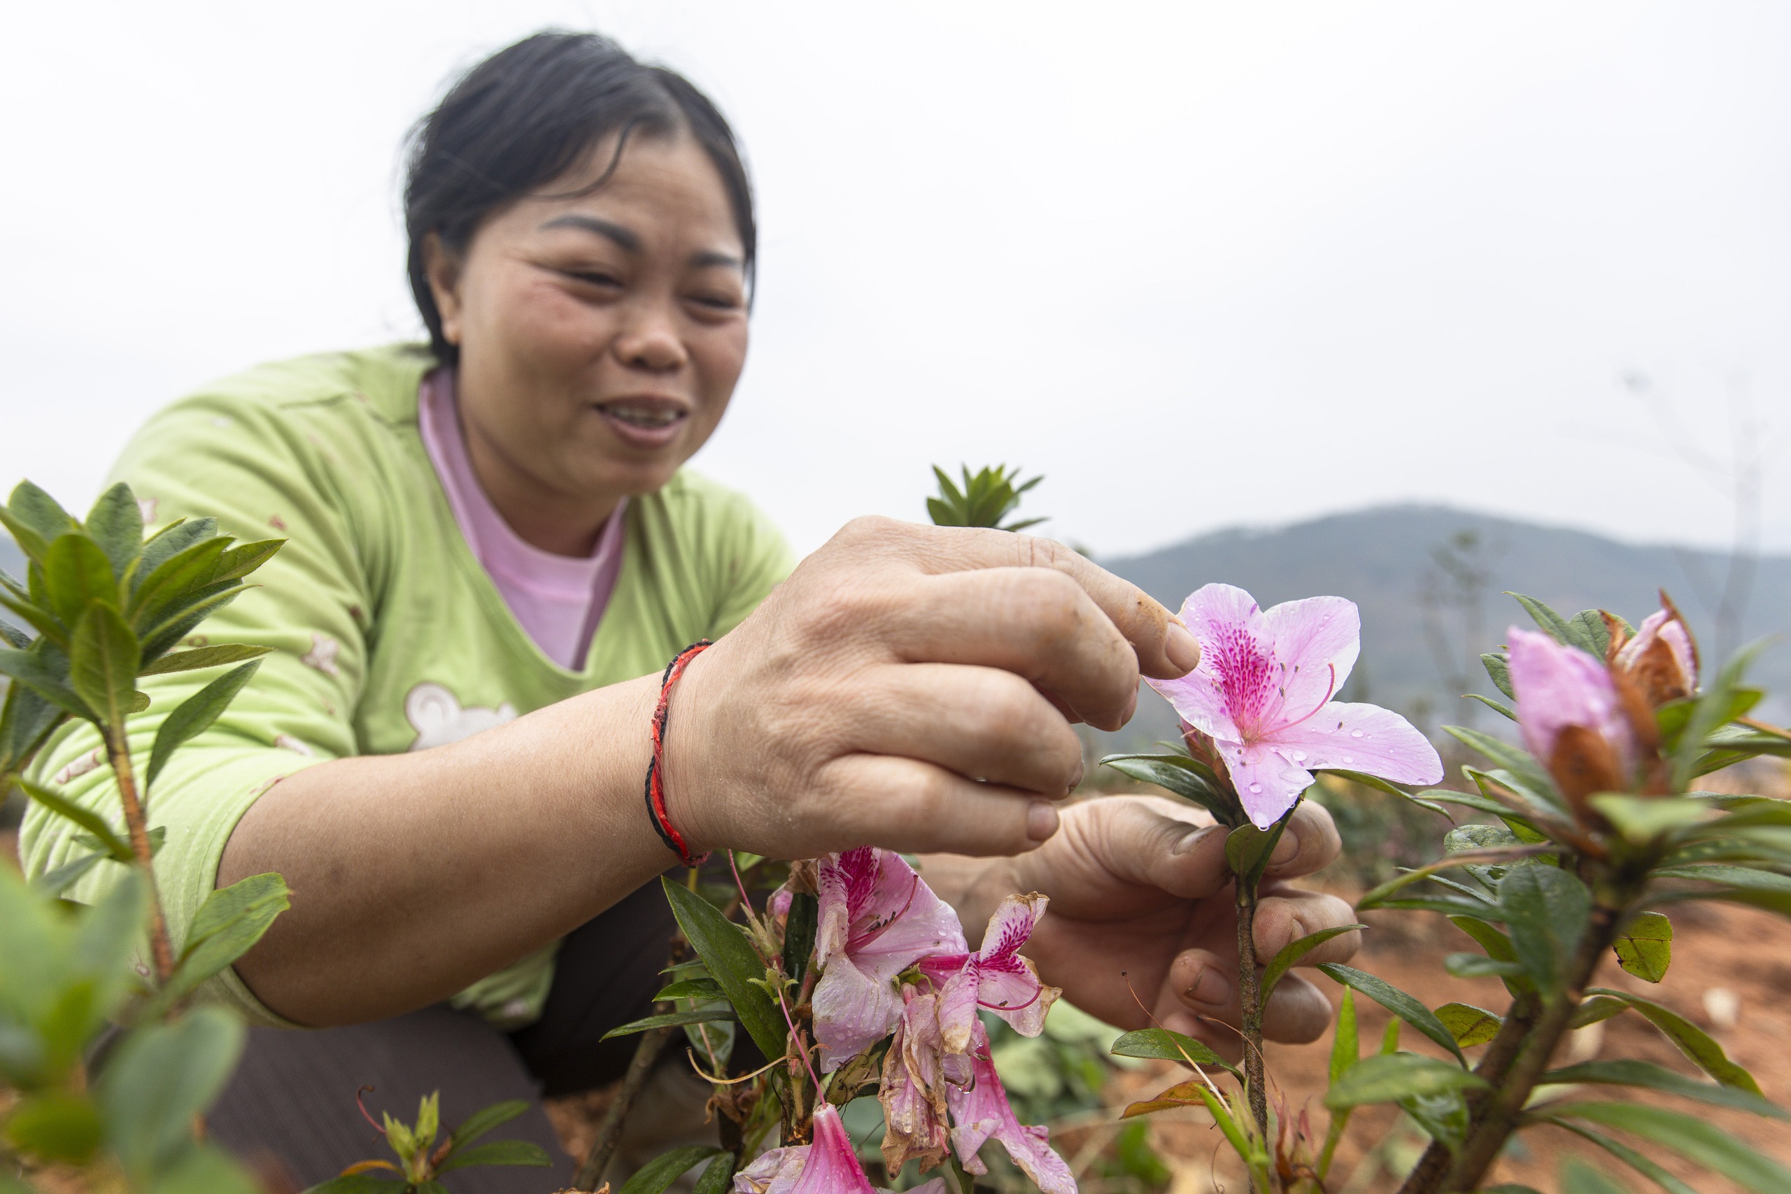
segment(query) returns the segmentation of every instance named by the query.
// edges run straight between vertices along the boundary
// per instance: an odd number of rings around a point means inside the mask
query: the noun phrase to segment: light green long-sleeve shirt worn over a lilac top
[[[424,451],[417,383],[432,365],[424,351],[398,345],[253,369],[158,414],[113,473],[154,526],[215,516],[226,533],[288,541],[251,578],[260,587],[195,634],[272,653],[149,795],[150,825],[167,827],[156,879],[176,949],[238,818],[281,777],[324,759],[450,743],[657,671],[684,644],[740,623],[792,567],[783,537],[745,498],[681,471],[629,501],[621,571],[586,666],[555,664],[475,559]],[[147,677],[150,705],[131,720],[133,754],[147,757],[168,711],[215,675]],[[93,729],[73,723],[45,746],[32,779],[116,820],[97,746]],[[27,872],[86,852],[75,836],[32,806],[20,840]],[[99,866],[73,899],[95,899],[118,874]],[[453,883],[446,870],[442,883]],[[500,1024],[527,1022],[552,967],[553,949],[537,951],[458,1002]],[[279,1022],[235,972],[202,994]]]

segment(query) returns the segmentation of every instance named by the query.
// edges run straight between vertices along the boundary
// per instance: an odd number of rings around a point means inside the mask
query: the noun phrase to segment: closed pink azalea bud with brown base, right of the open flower
[[[1553,770],[1562,732],[1576,725],[1603,739],[1621,775],[1628,775],[1637,759],[1635,730],[1630,729],[1617,684],[1605,664],[1535,630],[1512,627],[1506,634],[1512,691],[1517,693],[1517,729],[1524,736],[1524,748]],[[1607,782],[1592,788],[1621,784],[1621,775],[1607,777]]]

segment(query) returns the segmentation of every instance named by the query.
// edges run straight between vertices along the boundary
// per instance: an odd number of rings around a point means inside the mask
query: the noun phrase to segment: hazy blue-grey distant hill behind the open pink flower
[[[1485,584],[1453,582],[1438,562],[1440,550],[1444,559],[1483,571]],[[1189,593],[1214,580],[1248,589],[1264,607],[1315,594],[1347,596],[1361,607],[1363,623],[1363,662],[1347,698],[1399,709],[1424,729],[1469,718],[1492,729],[1501,718],[1460,700],[1460,693],[1495,695],[1478,653],[1494,650],[1506,627],[1531,625],[1504,591],[1526,593],[1562,612],[1599,607],[1641,621],[1657,607],[1655,589],[1664,587],[1692,623],[1709,661],[1718,646],[1714,605],[1728,557],[1401,505],[1272,530],[1223,530],[1101,564],[1170,609],[1180,609]],[[1481,618],[1470,652],[1467,598],[1474,593]],[[1791,557],[1762,557],[1755,571],[1737,637],[1748,643],[1766,634],[1791,639]],[[1470,659],[1469,687],[1449,686],[1444,668],[1460,677]],[[1791,707],[1791,643],[1770,650],[1752,675],[1775,693],[1775,711]],[[1132,725],[1107,736],[1107,743],[1135,748],[1173,736],[1173,727],[1168,705],[1146,695]]]

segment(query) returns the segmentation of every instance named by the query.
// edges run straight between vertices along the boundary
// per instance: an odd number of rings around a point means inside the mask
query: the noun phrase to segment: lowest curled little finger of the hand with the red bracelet
[[[853,754],[827,763],[815,823],[831,843],[801,856],[876,845],[903,852],[1021,854],[1057,832],[1050,800],[1014,788],[978,784],[933,763]]]

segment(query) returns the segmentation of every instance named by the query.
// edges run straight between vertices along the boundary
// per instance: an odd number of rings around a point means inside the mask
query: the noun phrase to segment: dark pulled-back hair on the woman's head
[[[539,32],[462,75],[410,132],[410,294],[439,360],[453,363],[458,349],[442,338],[423,263],[424,236],[435,233],[444,249],[464,252],[487,217],[566,174],[611,132],[620,132],[616,159],[636,134],[686,132],[709,154],[734,209],[750,285],[758,256],[752,186],[734,132],[715,104],[677,72],[638,63],[609,38]]]

